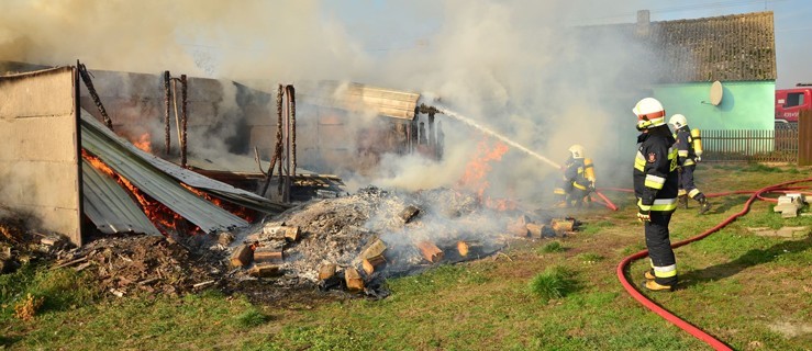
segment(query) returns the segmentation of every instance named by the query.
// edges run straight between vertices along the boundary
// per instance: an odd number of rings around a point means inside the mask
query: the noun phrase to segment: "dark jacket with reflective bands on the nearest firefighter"
[[[634,194],[642,211],[677,208],[679,179],[677,149],[668,126],[649,128],[637,137],[634,159]]]

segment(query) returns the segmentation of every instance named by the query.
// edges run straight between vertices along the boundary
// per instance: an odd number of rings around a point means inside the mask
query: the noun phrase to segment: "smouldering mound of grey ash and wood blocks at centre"
[[[244,260],[246,269],[237,271],[244,279],[263,275],[249,273],[267,263],[277,285],[353,291],[346,273],[357,274],[360,286],[370,286],[432,264],[491,254],[515,237],[508,233],[511,218],[515,216],[485,207],[475,194],[456,190],[401,193],[366,188],[265,218],[240,234],[231,250],[245,246],[255,250],[255,259]],[[297,234],[280,235],[279,228],[294,228]],[[279,253],[267,259],[268,251]]]

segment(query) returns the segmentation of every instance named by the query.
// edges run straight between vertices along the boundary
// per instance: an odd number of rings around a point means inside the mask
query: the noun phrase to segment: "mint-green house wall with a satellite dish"
[[[654,98],[663,103],[668,117],[679,113],[691,128],[774,129],[775,81],[722,82],[722,102],[710,104],[712,82],[654,87]]]

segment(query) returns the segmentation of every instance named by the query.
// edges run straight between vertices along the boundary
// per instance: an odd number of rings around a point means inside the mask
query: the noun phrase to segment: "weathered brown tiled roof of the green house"
[[[776,79],[771,11],[661,22],[649,22],[646,11],[637,16],[637,23],[585,30],[593,35],[613,27],[631,36],[650,55],[643,64],[655,63],[658,83]]]

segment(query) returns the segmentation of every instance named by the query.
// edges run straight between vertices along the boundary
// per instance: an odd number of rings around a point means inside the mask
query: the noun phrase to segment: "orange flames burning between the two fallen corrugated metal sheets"
[[[193,226],[189,228],[187,226],[186,219],[182,216],[142,192],[137,186],[133,185],[124,177],[121,177],[121,174],[116,173],[112,168],[108,167],[98,157],[91,155],[85,149],[81,149],[81,157],[91,166],[93,166],[93,168],[98,169],[104,174],[108,174],[124,189],[129,190],[130,194],[138,203],[141,208],[144,211],[144,214],[146,214],[147,218],[149,218],[149,220],[155,224],[155,227],[158,228],[158,230],[160,230],[165,236],[169,235],[169,230],[178,231],[181,228],[187,229],[183,231],[189,231],[191,234],[199,230],[199,228]]]

